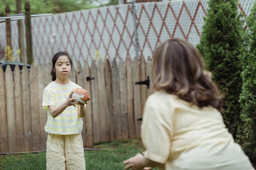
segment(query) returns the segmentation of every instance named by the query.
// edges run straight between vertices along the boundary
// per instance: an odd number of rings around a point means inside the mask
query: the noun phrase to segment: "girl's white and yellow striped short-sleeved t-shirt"
[[[78,134],[82,131],[82,118],[78,116],[78,107],[69,106],[57,117],[52,117],[48,106],[58,107],[69,98],[69,94],[75,88],[81,88],[79,85],[70,81],[62,85],[51,82],[46,86],[42,98],[42,108],[47,111],[47,123],[45,131],[53,134],[70,135]]]

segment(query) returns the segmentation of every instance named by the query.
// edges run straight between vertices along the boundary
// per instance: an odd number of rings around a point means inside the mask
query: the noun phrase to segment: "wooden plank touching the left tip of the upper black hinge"
[[[133,61],[133,82],[139,81],[139,64],[138,60],[134,58]],[[140,125],[141,121],[138,121],[138,118],[141,118],[141,107],[140,107],[140,86],[134,84],[134,124],[135,124],[135,136],[140,136]]]

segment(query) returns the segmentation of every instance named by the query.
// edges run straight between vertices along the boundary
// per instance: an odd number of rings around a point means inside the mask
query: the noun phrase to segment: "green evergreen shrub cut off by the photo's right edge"
[[[241,120],[238,129],[238,142],[242,145],[251,162],[256,165],[256,2],[247,17],[246,44],[249,47],[242,56],[242,93],[240,95]]]

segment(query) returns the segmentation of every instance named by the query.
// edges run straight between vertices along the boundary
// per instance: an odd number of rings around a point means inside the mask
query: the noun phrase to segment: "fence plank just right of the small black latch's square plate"
[[[97,77],[97,66],[95,61],[92,62],[91,66],[91,77],[94,78],[91,80],[91,103],[93,111],[93,141],[100,141],[100,132],[99,132],[99,106],[98,106],[98,77]]]

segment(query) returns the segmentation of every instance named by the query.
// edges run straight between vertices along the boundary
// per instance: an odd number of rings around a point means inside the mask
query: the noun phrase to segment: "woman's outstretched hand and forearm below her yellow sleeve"
[[[142,154],[137,154],[136,156],[129,158],[123,161],[123,164],[126,166],[124,167],[125,170],[132,169],[132,170],[150,170],[152,167],[145,167],[147,166],[148,159],[145,158]]]

